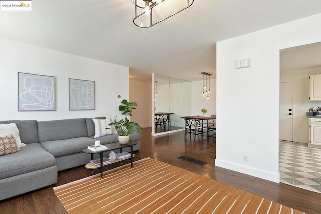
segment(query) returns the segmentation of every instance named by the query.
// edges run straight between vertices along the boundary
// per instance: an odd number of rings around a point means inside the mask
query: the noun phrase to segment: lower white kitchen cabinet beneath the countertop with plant
[[[309,118],[309,147],[321,148],[321,117]]]

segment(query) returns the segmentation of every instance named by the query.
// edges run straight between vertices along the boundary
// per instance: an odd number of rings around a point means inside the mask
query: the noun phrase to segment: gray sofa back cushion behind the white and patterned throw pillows
[[[36,120],[6,120],[0,121],[0,124],[16,123],[19,129],[21,142],[38,143],[38,127]]]

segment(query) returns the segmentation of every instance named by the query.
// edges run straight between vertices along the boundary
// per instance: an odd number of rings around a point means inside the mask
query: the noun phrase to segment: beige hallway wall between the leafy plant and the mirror
[[[151,127],[151,83],[129,80],[129,101],[136,102],[137,107],[132,111],[131,120],[141,127]]]

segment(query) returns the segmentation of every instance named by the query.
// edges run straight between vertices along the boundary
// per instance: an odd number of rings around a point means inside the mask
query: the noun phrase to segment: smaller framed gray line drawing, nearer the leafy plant
[[[69,78],[69,110],[95,110],[95,81]]]

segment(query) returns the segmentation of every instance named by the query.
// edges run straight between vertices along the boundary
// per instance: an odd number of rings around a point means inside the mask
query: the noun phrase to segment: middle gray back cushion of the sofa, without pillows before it
[[[40,143],[88,136],[84,118],[38,121],[37,123]]]

